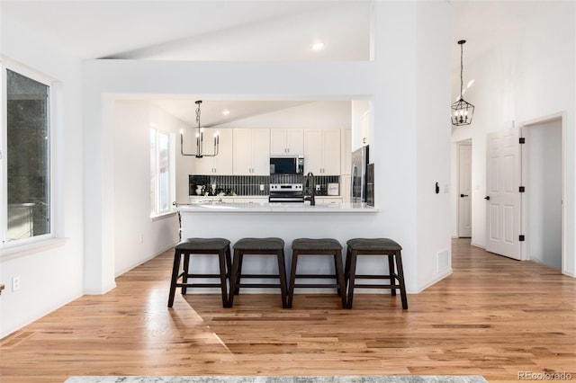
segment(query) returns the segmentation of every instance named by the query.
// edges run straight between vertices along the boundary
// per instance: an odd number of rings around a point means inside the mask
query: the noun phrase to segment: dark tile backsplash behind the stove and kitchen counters
[[[306,183],[306,176],[302,174],[273,174],[273,175],[211,175],[190,174],[189,194],[197,195],[196,190],[211,191],[211,184],[215,183],[215,193],[224,192],[227,195],[266,196],[270,190],[270,183]],[[318,195],[326,195],[328,183],[338,183],[338,175],[319,175],[314,177],[317,185],[320,185]],[[264,185],[264,191],[260,190]]]

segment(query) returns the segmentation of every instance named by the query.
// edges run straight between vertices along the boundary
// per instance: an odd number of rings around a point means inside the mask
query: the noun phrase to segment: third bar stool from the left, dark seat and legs
[[[334,257],[335,273],[331,274],[297,274],[296,266],[301,255],[332,255]],[[294,288],[336,288],[342,299],[342,308],[347,308],[346,285],[342,271],[342,245],[332,238],[310,239],[298,238],[292,243],[292,271],[290,273],[290,288],[288,291],[288,305],[292,307]],[[336,283],[295,283],[296,278],[330,278]]]

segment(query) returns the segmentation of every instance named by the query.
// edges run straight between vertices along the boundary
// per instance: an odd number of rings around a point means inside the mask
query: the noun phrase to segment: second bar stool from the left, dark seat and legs
[[[276,255],[278,260],[277,274],[243,274],[244,255]],[[280,283],[241,283],[242,278],[278,278]],[[286,265],[284,262],[284,240],[281,238],[242,238],[234,244],[234,263],[230,274],[229,307],[234,304],[234,295],[240,288],[280,288],[282,307],[286,308]]]

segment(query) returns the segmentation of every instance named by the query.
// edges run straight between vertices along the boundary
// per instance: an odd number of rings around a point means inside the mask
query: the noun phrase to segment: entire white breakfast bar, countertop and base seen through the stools
[[[196,203],[175,208],[181,219],[182,239],[221,237],[230,241],[230,248],[241,238],[279,237],[284,240],[287,272],[292,261],[292,243],[297,238],[333,238],[343,246],[346,259],[347,240],[351,238],[383,237],[376,223],[378,209],[365,203]],[[370,257],[373,258],[373,257]],[[366,259],[358,263],[357,272],[387,271],[381,259]],[[190,268],[204,274],[218,274],[218,257],[194,254]],[[298,261],[305,273],[333,273],[335,265],[327,257],[310,255]],[[252,274],[277,274],[275,257],[251,255],[243,261],[242,271]],[[369,272],[367,272],[369,271]],[[218,292],[219,289],[196,289],[195,292]],[[326,292],[326,289],[309,292]],[[278,289],[243,289],[245,292],[275,292]],[[298,293],[298,289],[294,291]]]

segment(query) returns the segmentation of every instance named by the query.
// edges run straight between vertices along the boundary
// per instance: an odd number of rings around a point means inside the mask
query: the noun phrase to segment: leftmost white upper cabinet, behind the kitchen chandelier
[[[218,156],[194,158],[194,173],[195,174],[232,174],[232,141],[234,135],[232,129],[221,129],[219,144],[220,148]],[[206,153],[213,153],[213,147],[210,140],[204,142],[204,151]]]

